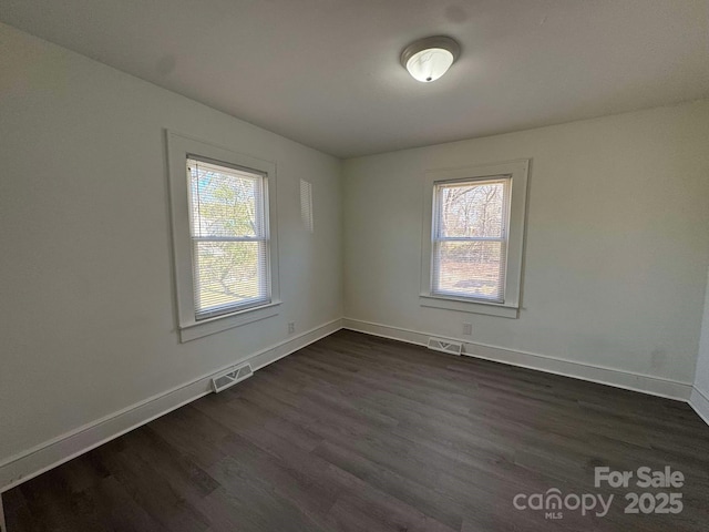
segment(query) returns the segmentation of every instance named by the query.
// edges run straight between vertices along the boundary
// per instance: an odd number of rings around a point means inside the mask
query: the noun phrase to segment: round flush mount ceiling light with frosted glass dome
[[[401,64],[414,80],[430,83],[441,78],[461,54],[461,47],[450,37],[427,37],[401,52]]]

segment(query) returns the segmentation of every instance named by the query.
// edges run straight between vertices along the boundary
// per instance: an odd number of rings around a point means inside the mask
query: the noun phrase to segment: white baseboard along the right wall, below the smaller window
[[[342,328],[381,336],[383,338],[407,341],[409,344],[417,344],[419,346],[425,346],[430,336],[441,336],[438,334],[419,332],[401,327],[373,324],[371,321],[362,321],[352,318],[343,318]],[[641,391],[653,396],[687,401],[692,390],[692,386],[688,382],[680,382],[649,375],[633,374],[619,369],[604,368],[585,362],[563,360],[561,358],[548,357],[546,355],[517,351],[485,344],[474,344],[461,338],[446,337],[446,339],[462,342],[464,349],[463,355],[471,357],[494,360],[496,362],[508,364],[511,366],[536,369],[547,374],[562,375],[564,377],[573,377],[575,379],[614,386],[616,388]]]

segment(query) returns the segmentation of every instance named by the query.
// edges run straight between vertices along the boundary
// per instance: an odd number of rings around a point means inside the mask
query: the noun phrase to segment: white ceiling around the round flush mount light
[[[0,0],[0,20],[350,157],[709,95],[709,0]],[[399,64],[448,34],[423,84]]]

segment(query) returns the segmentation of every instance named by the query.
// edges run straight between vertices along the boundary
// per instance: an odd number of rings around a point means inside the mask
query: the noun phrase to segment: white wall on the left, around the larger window
[[[3,24],[0,50],[0,468],[339,320],[338,160]],[[165,127],[277,164],[279,316],[178,342]]]

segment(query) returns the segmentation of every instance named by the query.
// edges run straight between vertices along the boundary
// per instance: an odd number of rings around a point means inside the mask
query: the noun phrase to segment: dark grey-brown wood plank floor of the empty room
[[[594,468],[681,489],[594,487]],[[517,493],[615,494],[605,518]],[[626,514],[627,491],[681,492]],[[707,531],[709,427],[681,402],[339,331],[3,495],[22,531]]]

